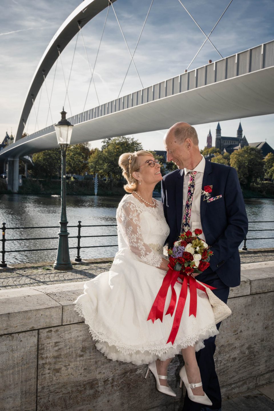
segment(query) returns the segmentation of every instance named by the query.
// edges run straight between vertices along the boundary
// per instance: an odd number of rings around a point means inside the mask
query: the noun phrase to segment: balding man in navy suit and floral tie
[[[200,154],[196,130],[187,123],[179,122],[170,127],[164,143],[167,161],[178,167],[162,180],[163,209],[170,228],[168,247],[172,247],[182,231],[201,229],[200,237],[211,246],[213,255],[210,267],[196,278],[216,287],[214,294],[226,303],[229,287],[240,284],[238,247],[248,229],[237,171],[207,161]],[[221,409],[221,391],[213,358],[215,349],[215,337],[210,337],[205,340],[205,348],[196,354],[203,390],[212,406],[207,408],[192,402],[186,394],[184,411]]]

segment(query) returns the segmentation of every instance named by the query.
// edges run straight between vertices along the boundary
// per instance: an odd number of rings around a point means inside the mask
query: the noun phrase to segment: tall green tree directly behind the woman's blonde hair
[[[119,136],[113,139],[103,140],[103,154],[104,154],[104,175],[109,178],[121,180],[122,171],[118,166],[118,160],[124,152],[134,152],[143,150],[142,144],[133,137]]]

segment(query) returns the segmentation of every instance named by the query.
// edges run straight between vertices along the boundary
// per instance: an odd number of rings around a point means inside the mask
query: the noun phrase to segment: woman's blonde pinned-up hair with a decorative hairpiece
[[[138,180],[132,177],[132,173],[134,173],[134,171],[139,171],[140,165],[138,157],[143,157],[146,155],[153,157],[151,152],[145,150],[134,151],[134,153],[124,153],[120,155],[118,164],[123,170],[122,175],[127,180],[127,184],[124,185],[124,189],[127,193],[133,193],[137,189]]]

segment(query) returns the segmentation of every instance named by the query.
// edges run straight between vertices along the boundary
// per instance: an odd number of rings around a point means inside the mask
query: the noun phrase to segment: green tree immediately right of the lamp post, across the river
[[[66,172],[83,175],[89,169],[89,156],[88,143],[69,145],[67,148]]]

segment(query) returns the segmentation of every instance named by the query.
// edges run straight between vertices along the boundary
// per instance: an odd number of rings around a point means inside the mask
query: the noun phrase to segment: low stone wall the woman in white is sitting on
[[[145,365],[108,360],[74,311],[83,284],[0,291],[0,410],[179,410],[182,356],[169,367],[175,398],[144,379]],[[228,305],[215,355],[223,397],[274,381],[274,261],[242,265]]]

